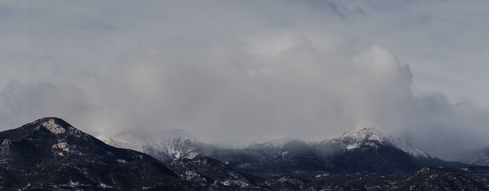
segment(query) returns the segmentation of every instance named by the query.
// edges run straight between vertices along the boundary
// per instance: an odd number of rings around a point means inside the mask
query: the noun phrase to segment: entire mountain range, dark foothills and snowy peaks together
[[[179,131],[97,139],[59,118],[42,118],[0,132],[0,190],[489,188],[489,167],[446,162],[371,128],[240,149],[195,140]]]

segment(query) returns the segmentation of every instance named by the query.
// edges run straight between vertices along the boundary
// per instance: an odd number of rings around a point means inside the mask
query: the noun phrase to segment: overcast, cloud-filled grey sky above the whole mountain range
[[[2,1],[0,130],[489,146],[489,1]]]

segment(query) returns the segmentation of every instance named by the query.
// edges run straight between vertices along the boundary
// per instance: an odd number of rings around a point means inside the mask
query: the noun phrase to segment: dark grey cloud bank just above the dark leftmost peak
[[[25,85],[12,80],[0,92],[2,129],[11,129],[45,116],[89,120],[96,111],[85,92],[71,84],[38,83]],[[78,123],[77,123],[78,124]]]

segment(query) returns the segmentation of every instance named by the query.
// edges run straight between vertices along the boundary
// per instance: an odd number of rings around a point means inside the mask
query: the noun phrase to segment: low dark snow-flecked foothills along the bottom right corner
[[[319,176],[301,184],[301,190],[314,191],[404,191],[404,190],[485,190],[489,188],[489,174],[446,167],[423,168],[406,178],[399,176],[370,176],[365,174]],[[296,181],[294,181],[296,182]],[[291,188],[288,182],[276,186]],[[286,189],[284,189],[286,190]]]

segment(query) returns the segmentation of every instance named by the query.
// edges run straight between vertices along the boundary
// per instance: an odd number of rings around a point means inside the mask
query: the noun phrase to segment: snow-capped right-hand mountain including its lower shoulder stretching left
[[[314,177],[319,174],[406,174],[423,167],[464,167],[445,162],[377,129],[344,132],[334,139],[305,142],[269,141],[245,149],[214,150],[206,157],[263,178],[279,175]]]

